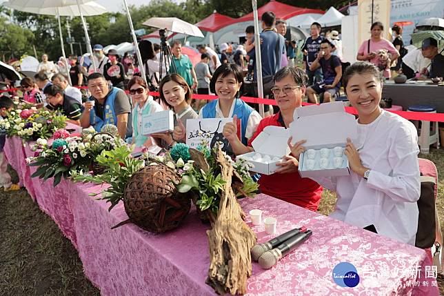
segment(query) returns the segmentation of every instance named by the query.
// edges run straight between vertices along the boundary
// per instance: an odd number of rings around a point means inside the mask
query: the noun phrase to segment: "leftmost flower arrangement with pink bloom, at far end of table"
[[[24,141],[49,139],[52,132],[66,126],[67,118],[59,112],[37,109],[35,107],[15,109],[0,119],[0,128],[6,130],[8,137],[20,137]]]

